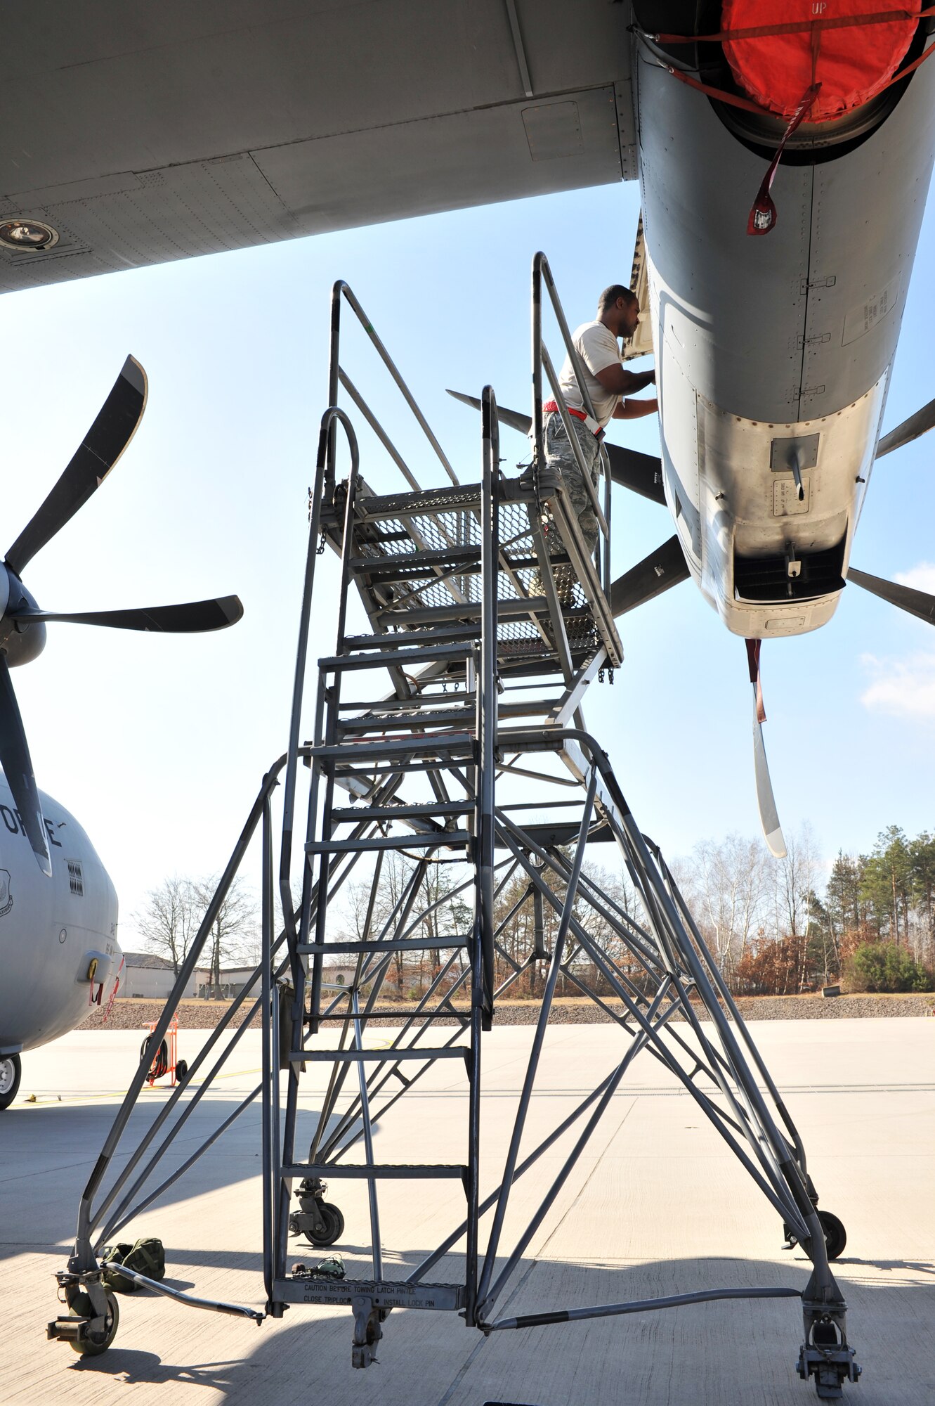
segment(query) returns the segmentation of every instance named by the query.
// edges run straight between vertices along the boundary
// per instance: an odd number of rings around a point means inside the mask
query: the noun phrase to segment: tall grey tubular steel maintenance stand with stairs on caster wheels
[[[458,482],[351,290],[344,283],[334,285],[331,405],[321,418],[310,502],[289,745],[263,780],[81,1197],[74,1254],[59,1282],[69,1302],[83,1289],[95,1317],[59,1319],[49,1326],[49,1336],[93,1337],[101,1330],[105,1301],[97,1254],[102,1241],[168,1189],[260,1097],[265,1312],[281,1317],[289,1303],[350,1305],[357,1367],[373,1360],[382,1323],[397,1308],[458,1312],[469,1327],[493,1333],[712,1299],[795,1296],[802,1298],[804,1315],[800,1374],[816,1378],[820,1396],[840,1396],[841,1384],[856,1379],[859,1368],[847,1341],[845,1305],[828,1267],[802,1139],[661,853],[642,835],[606,752],[584,725],[584,693],[605,665],[619,664],[622,650],[605,589],[584,554],[563,486],[560,481],[549,481],[545,464],[543,366],[563,412],[564,405],[542,344],[543,278],[571,350],[548,262],[538,254],[532,319],[536,474],[517,479],[501,474],[497,405],[487,387],[482,481],[469,485]],[[449,478],[448,486],[418,488],[341,368],[343,299],[365,326],[424,429]],[[380,496],[364,481],[354,427],[336,404],[340,385],[348,389],[403,471],[407,492]],[[567,413],[563,419],[567,422]],[[351,461],[350,475],[341,484],[334,472],[338,427],[347,437]],[[576,436],[570,439],[577,447]],[[553,531],[564,546],[564,557],[556,553],[555,540],[548,550],[546,537]],[[340,555],[337,644],[333,655],[317,661],[314,734],[302,745],[312,599],[324,544]],[[605,583],[608,546],[605,540]],[[570,567],[577,576],[571,596],[567,589],[562,596],[556,591],[556,564]],[[350,633],[348,603],[355,591],[371,621],[371,634]],[[389,675],[389,693],[380,695],[378,688],[376,696],[365,702],[345,696],[351,682],[372,679],[373,673],[383,679]],[[307,768],[309,794],[302,837],[302,897],[296,908],[292,855],[300,824],[296,814],[300,762]],[[532,804],[501,799],[503,789],[515,785],[517,775],[535,779],[553,799]],[[277,875],[271,797],[281,778]],[[192,1062],[185,1084],[171,1092],[104,1189],[149,1070],[149,1047],[159,1046],[168,1026],[257,830],[263,956],[254,981],[260,983],[260,995],[247,994],[253,984],[244,987]],[[595,839],[616,846],[640,903],[639,921],[588,876],[585,852]],[[397,866],[392,901],[386,900],[387,859]],[[338,900],[355,869],[358,875],[369,873],[369,879],[358,928],[348,938],[340,931]],[[519,897],[515,887],[510,889],[517,880],[522,883]],[[274,917],[277,891],[281,931]],[[508,891],[511,898],[505,900]],[[532,910],[532,931],[528,950],[517,953],[508,949],[504,934],[524,907]],[[546,914],[553,915],[550,949],[545,942]],[[441,931],[445,924],[452,931]],[[394,962],[404,953],[425,952],[432,953],[434,962],[430,986],[402,1018],[392,1004],[380,1005],[380,995],[390,986]],[[354,974],[343,987],[327,981],[326,957],[334,956],[354,963]],[[491,1026],[497,1000],[536,963],[548,963],[548,972],[515,1123],[503,1170],[493,1175],[496,1185],[484,1189],[491,1180],[491,1168],[482,1161],[484,1032]],[[524,1153],[528,1111],[559,980],[594,1000],[618,1025],[619,1062],[538,1146]],[[608,1004],[598,984],[614,993],[616,1005]],[[208,1069],[218,1042],[247,1002],[247,1021]],[[260,1084],[183,1167],[145,1191],[257,1011],[263,1014]],[[399,1022],[383,1031],[387,1043],[379,1049],[368,1046],[371,1022],[386,1017]],[[439,1026],[441,1032],[432,1038]],[[803,1246],[813,1264],[809,1284],[803,1291],[719,1288],[498,1317],[497,1303],[507,1284],[642,1050],[691,1095],[782,1218],[788,1234]],[[375,1161],[373,1128],[439,1060],[465,1067],[466,1160],[460,1164]],[[302,1160],[296,1152],[302,1071],[320,1064],[330,1073],[310,1147]],[[195,1083],[205,1069],[202,1081]],[[184,1102],[183,1095],[187,1095]],[[538,1198],[528,1225],[504,1247],[515,1182],[573,1130],[564,1161]],[[160,1135],[161,1142],[154,1146]],[[362,1160],[348,1157],[361,1152]],[[358,1178],[366,1184],[371,1219],[366,1279],[326,1279],[288,1268],[289,1234],[300,1229],[314,1240],[316,1230],[321,1230],[326,1178],[330,1182]],[[378,1187],[383,1180],[400,1178],[459,1181],[465,1216],[411,1272],[393,1279],[383,1267]],[[296,1199],[302,1212],[292,1209]],[[490,1220],[482,1225],[487,1215]],[[427,1275],[452,1253],[455,1264],[463,1261],[463,1272],[449,1274],[444,1282],[430,1281]],[[149,1282],[142,1275],[133,1278]],[[241,1305],[153,1286],[192,1306],[263,1317]],[[63,1323],[73,1326],[62,1327]]]

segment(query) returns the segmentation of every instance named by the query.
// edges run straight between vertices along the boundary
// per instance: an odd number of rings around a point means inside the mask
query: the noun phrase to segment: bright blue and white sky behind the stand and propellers
[[[327,392],[329,291],[344,277],[387,343],[459,477],[479,468],[479,418],[445,395],[490,381],[529,401],[529,264],[545,249],[571,325],[628,281],[636,186],[469,209],[83,280],[3,299],[3,425],[11,543],[67,463],[124,357],[149,375],[143,423],[94,499],[31,562],[46,609],[159,605],[237,592],[244,620],[173,638],[49,626],[14,682],[39,786],[88,831],[132,912],[173,872],[219,870],[288,728],[306,488]],[[935,395],[935,212],[910,288],[886,427]],[[557,354],[557,336],[546,335]],[[355,326],[343,361],[418,477],[421,451]],[[657,451],[654,418],[616,425]],[[396,486],[361,432],[362,471]],[[508,463],[524,440],[504,432]],[[854,564],[935,591],[935,437],[882,460]],[[664,509],[616,491],[615,567],[671,534]],[[313,634],[330,651],[334,569],[323,558]],[[758,834],[743,641],[691,583],[622,621],[626,662],[587,718],[633,811],[667,853]],[[825,856],[887,824],[935,827],[935,634],[855,586],[825,628],[762,659],[783,825],[809,821]]]

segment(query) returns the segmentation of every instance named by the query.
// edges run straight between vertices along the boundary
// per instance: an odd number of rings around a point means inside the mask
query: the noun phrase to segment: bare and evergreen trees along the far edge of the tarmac
[[[935,835],[910,839],[889,825],[869,853],[841,851],[827,869],[803,825],[788,838],[785,859],[775,859],[761,839],[727,835],[699,842],[671,868],[736,995],[793,995],[837,983],[851,991],[935,988]],[[459,862],[389,852],[376,883],[373,877],[365,873],[347,884],[331,910],[329,936],[423,938],[423,950],[387,953],[382,1000],[411,1000],[430,988],[439,997],[453,990],[466,998],[466,950],[456,939],[466,939],[473,922],[470,870]],[[594,862],[585,863],[583,883],[597,903],[578,896],[578,922],[640,984],[643,973],[611,921],[614,914],[643,921],[636,891],[622,873]],[[538,903],[533,890],[521,868],[501,870],[494,904],[497,981],[517,997],[541,993],[559,924],[555,908]],[[146,946],[175,972],[213,891],[213,880],[174,876],[152,890],[135,914]],[[556,891],[563,893],[562,884]],[[222,965],[258,962],[257,901],[240,880],[218,911],[205,956],[215,990]],[[573,946],[557,990],[608,995],[611,986]]]

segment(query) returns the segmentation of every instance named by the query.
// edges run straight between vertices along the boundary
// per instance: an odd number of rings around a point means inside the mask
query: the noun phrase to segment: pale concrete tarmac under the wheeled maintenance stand
[[[845,1386],[855,1406],[935,1402],[935,1021],[772,1021],[751,1026],[809,1152],[821,1206],[845,1223],[835,1275],[863,1367]],[[184,1031],[190,1062],[205,1031]],[[496,1184],[531,1029],[484,1036],[483,1188]],[[292,1308],[260,1329],[149,1295],[122,1295],[114,1346],[79,1358],[45,1341],[56,1316],[81,1187],[139,1054],[133,1032],[74,1032],[24,1056],[17,1102],[0,1114],[0,1279],[4,1351],[0,1400],[17,1406],[785,1406],[814,1400],[795,1362],[802,1312],[795,1299],[720,1302],[496,1333],[455,1315],[394,1312],[379,1364],[351,1368],[351,1313]],[[373,1031],[371,1042],[386,1039]],[[611,1025],[550,1029],[526,1147],[571,1111],[622,1053]],[[246,1032],[160,1167],[157,1181],[258,1083],[260,1045]],[[317,1083],[316,1083],[317,1081]],[[303,1083],[302,1132],[320,1098]],[[376,1132],[378,1161],[463,1161],[465,1078],[444,1062]],[[27,1102],[29,1095],[35,1102]],[[131,1125],[145,1129],[167,1094],[146,1091]],[[299,1144],[302,1136],[299,1137]],[[505,1243],[515,1240],[559,1170],[559,1143],[518,1182]],[[118,1159],[119,1160],[119,1159]],[[122,1164],[122,1161],[121,1161]],[[152,1182],[153,1185],[157,1181]],[[331,1184],[348,1275],[369,1261],[366,1187]],[[385,1274],[402,1278],[463,1216],[458,1182],[380,1185]],[[211,1152],[121,1239],[156,1234],[167,1282],[208,1298],[263,1306],[260,1112],[251,1107]],[[497,1305],[498,1316],[679,1294],[708,1286],[803,1288],[809,1264],[783,1253],[776,1212],[695,1102],[651,1057],[635,1062],[571,1181],[533,1236]],[[305,1241],[293,1258],[316,1263]],[[452,1258],[431,1279],[456,1279]]]

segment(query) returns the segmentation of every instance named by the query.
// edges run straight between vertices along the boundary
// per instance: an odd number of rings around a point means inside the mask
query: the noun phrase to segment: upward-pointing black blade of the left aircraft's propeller
[[[146,373],[132,356],[69,467],[7,553],[17,576],[94,494],[129,444],[146,409]]]

